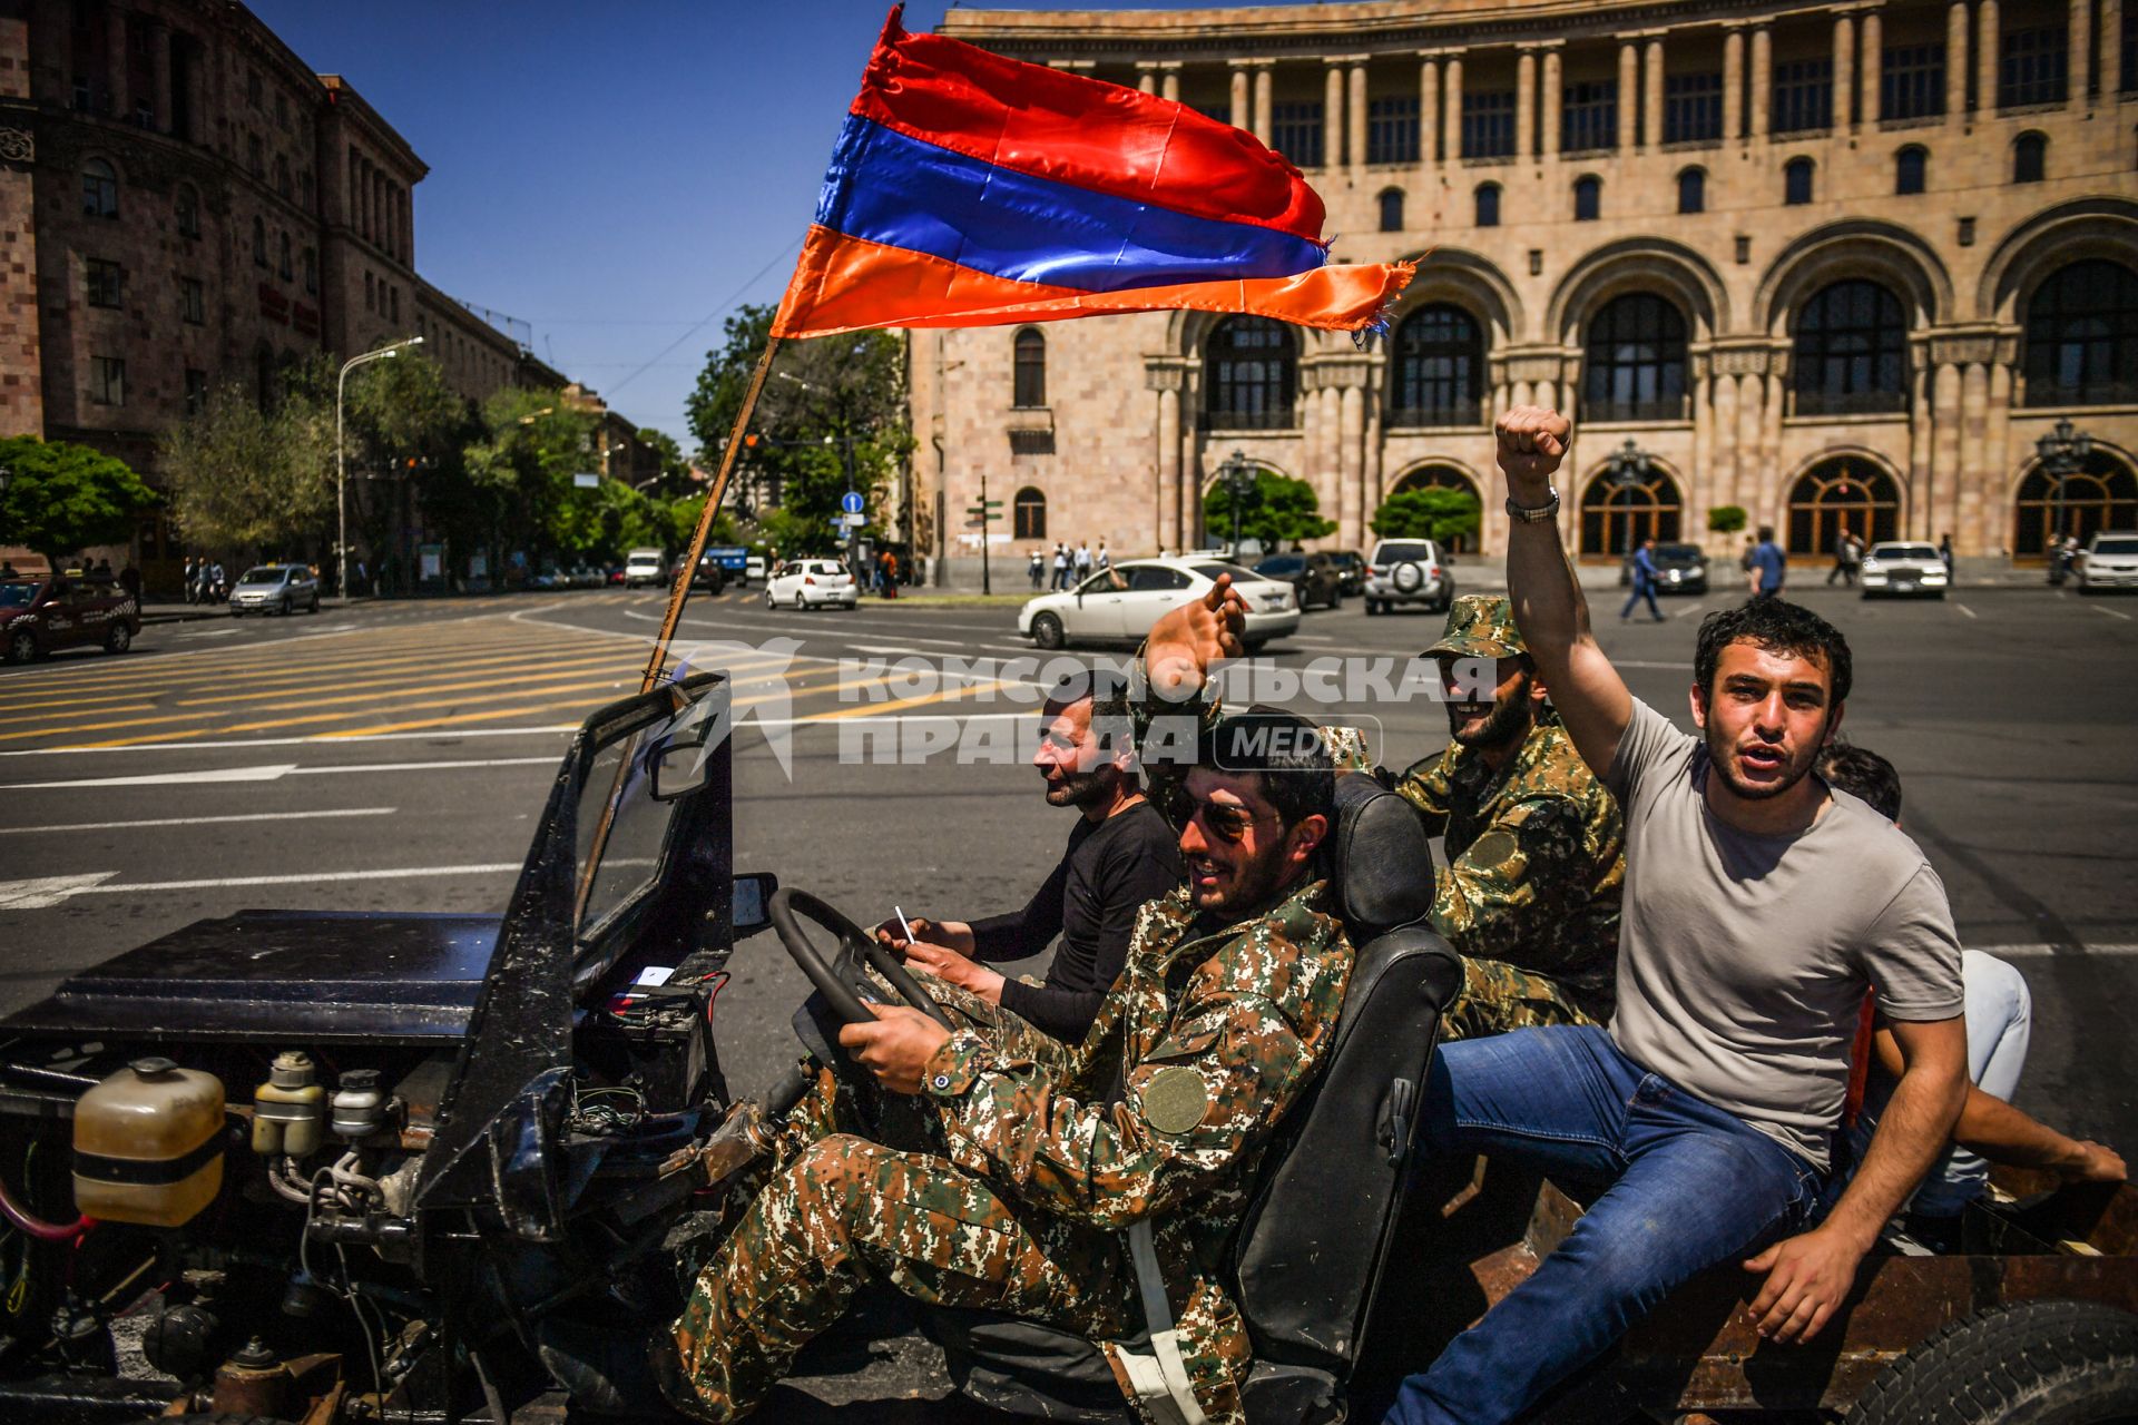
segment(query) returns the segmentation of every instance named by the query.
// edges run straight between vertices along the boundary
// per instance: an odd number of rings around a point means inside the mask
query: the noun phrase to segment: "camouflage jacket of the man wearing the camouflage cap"
[[[1432,927],[1456,951],[1548,974],[1599,1023],[1618,968],[1625,823],[1556,714],[1499,771],[1471,748],[1396,778],[1426,831],[1447,837]]]

